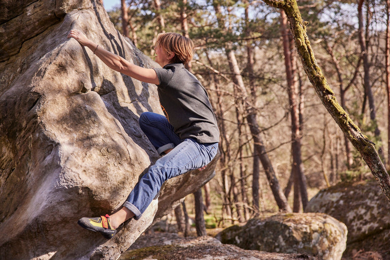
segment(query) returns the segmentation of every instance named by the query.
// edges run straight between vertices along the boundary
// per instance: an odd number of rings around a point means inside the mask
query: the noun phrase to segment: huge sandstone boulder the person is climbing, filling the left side
[[[0,259],[116,259],[210,180],[216,159],[168,181],[113,239],[82,229],[80,217],[119,209],[158,158],[138,118],[161,111],[155,85],[109,69],[68,32],[80,29],[140,66],[158,65],[119,34],[100,2],[0,6]]]

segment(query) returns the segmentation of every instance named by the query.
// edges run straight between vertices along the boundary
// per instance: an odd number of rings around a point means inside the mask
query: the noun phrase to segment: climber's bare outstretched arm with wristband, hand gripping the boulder
[[[121,56],[105,50],[98,44],[90,41],[81,31],[72,29],[68,35],[68,38],[71,37],[76,39],[81,45],[88,47],[111,69],[146,83],[159,84],[157,74],[153,69],[137,66]]]

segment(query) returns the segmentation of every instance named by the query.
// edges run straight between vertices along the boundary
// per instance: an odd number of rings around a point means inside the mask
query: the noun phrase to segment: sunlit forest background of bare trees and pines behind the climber
[[[302,212],[321,188],[373,178],[309,82],[284,11],[247,0],[117,1],[111,21],[146,55],[153,57],[159,32],[194,41],[187,68],[207,89],[218,119],[216,176],[203,194],[187,196],[178,219],[186,208],[198,212],[198,223],[205,210],[209,227]],[[298,6],[318,66],[387,168],[389,1]]]

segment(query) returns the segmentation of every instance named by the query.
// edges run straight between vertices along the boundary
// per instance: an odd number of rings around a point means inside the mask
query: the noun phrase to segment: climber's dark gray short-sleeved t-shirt
[[[182,63],[154,70],[160,82],[157,91],[161,108],[175,133],[199,143],[219,142],[217,120],[199,80]]]

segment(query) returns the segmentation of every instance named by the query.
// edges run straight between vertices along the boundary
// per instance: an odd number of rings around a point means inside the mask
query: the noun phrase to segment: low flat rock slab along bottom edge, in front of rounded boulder
[[[143,247],[145,245],[152,245]],[[319,260],[320,258],[301,254],[269,253],[244,250],[234,245],[223,245],[212,237],[180,238],[176,234],[155,234],[142,236],[124,252],[120,260]]]

